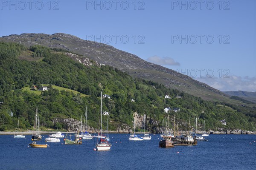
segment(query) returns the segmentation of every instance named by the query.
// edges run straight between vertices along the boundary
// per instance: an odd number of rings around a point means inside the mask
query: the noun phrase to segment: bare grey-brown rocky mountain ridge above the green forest
[[[227,101],[229,99],[221,91],[172,69],[147,62],[134,54],[118,50],[113,46],[82,40],[70,34],[12,34],[1,37],[1,41],[18,42],[28,47],[44,45],[50,48],[64,48],[84,55],[98,63],[119,68],[132,77],[141,77],[159,82],[169,88],[175,88],[206,100]]]

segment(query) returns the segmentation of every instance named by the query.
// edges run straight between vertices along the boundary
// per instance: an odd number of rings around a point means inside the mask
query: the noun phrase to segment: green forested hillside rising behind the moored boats
[[[25,87],[41,87],[42,84],[49,84],[49,91],[23,91]],[[58,91],[51,85],[79,91],[87,96]],[[148,119],[159,122],[158,126],[161,126],[167,114],[164,112],[166,107],[180,108],[177,113],[168,113],[171,117],[175,115],[179,122],[189,122],[189,119],[194,120],[196,116],[199,124],[205,120],[206,129],[224,127],[256,130],[255,107],[204,101],[155,82],[134,79],[110,66],[99,66],[93,60],[90,60],[89,65],[83,65],[68,57],[65,50],[40,45],[26,48],[16,43],[0,42],[1,131],[15,129],[18,118],[20,128],[32,129],[36,106],[41,126],[63,129],[65,125],[54,124],[52,119],[70,117],[79,120],[87,105],[88,124],[97,128],[101,91],[111,96],[111,99],[103,99],[103,111],[110,112],[110,130],[116,130],[121,123],[132,126],[134,112],[146,114]],[[165,95],[171,99],[165,99]],[[222,119],[226,119],[226,126],[220,123]],[[147,123],[148,130],[156,126],[149,121]]]

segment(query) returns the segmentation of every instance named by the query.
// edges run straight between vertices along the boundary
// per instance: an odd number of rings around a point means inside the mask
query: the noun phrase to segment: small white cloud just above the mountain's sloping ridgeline
[[[175,62],[174,59],[171,57],[159,57],[157,55],[154,55],[152,57],[149,57],[146,59],[148,62],[152,62],[154,64],[159,65],[180,65],[179,62]]]

